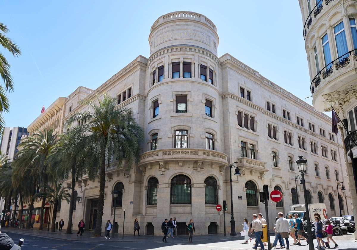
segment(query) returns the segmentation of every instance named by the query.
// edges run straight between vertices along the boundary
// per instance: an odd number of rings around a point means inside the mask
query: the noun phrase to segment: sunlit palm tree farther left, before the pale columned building
[[[43,129],[42,131],[37,129],[31,136],[24,137],[21,140],[18,146],[20,150],[16,154],[16,164],[19,167],[23,166],[24,169],[29,171],[29,176],[33,176],[33,191],[35,191],[37,183],[47,184],[47,157],[51,150],[58,146],[58,143],[59,139],[57,133],[54,134],[53,128]],[[45,187],[44,192],[46,192]],[[33,201],[34,197],[31,199],[30,215],[32,215]],[[44,207],[45,199],[42,199],[39,230],[43,229]],[[30,228],[29,223],[27,223],[26,228]]]

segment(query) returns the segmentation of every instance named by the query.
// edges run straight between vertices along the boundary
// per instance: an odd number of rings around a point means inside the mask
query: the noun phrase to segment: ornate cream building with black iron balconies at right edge
[[[341,157],[347,162],[352,203],[357,206],[357,3],[299,0],[299,4],[313,106],[317,111],[333,107],[342,121],[336,117],[345,148]]]

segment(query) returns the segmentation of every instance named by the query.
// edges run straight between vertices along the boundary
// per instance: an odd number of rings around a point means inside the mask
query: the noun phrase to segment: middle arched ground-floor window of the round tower
[[[186,175],[176,175],[171,180],[171,204],[191,204],[191,180]]]

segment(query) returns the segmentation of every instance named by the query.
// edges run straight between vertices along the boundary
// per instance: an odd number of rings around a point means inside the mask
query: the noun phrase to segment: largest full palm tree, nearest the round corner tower
[[[128,169],[139,162],[144,132],[135,121],[131,109],[116,108],[116,99],[107,93],[104,94],[103,100],[99,99],[99,96],[96,99],[97,103],[82,100],[80,103],[89,105],[89,111],[75,112],[65,122],[65,126],[69,127],[68,133],[78,138],[80,145],[85,145],[82,149],[84,157],[81,159],[85,161],[89,179],[94,179],[99,172],[98,214],[94,236],[100,236],[104,208],[105,165],[115,159],[120,166],[124,155]],[[77,121],[82,125],[70,127]]]

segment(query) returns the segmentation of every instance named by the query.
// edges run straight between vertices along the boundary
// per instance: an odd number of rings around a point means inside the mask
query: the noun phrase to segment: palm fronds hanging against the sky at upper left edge
[[[20,49],[5,36],[5,33],[9,32],[7,27],[0,23],[0,44],[4,49],[8,50],[13,56],[21,55]],[[2,116],[2,112],[9,112],[9,99],[7,99],[6,91],[12,91],[14,86],[12,84],[12,77],[10,74],[10,64],[7,62],[5,56],[0,52],[0,75],[4,79],[5,89],[3,85],[0,85],[0,131],[5,127],[5,120]]]

